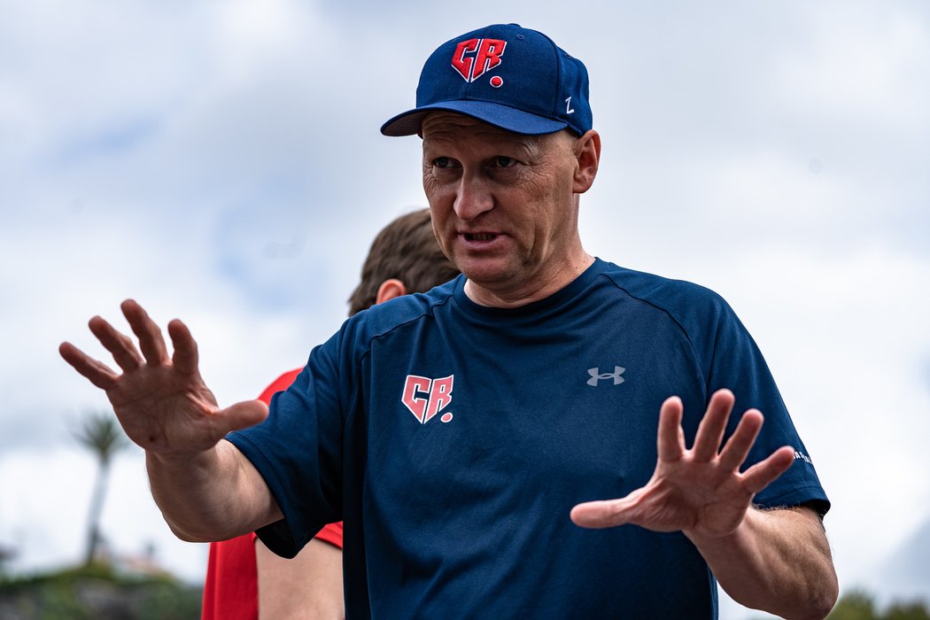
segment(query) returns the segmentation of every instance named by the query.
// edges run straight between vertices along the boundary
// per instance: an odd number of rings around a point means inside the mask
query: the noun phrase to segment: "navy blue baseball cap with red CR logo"
[[[543,33],[495,24],[446,41],[419,75],[417,107],[384,125],[385,136],[419,134],[423,118],[445,110],[518,134],[591,129],[588,70]]]

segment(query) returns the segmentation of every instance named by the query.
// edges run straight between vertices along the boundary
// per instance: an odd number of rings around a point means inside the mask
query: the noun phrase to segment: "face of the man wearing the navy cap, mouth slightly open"
[[[433,112],[422,125],[423,189],[436,238],[472,283],[533,297],[558,280],[578,241],[577,140],[525,136]]]

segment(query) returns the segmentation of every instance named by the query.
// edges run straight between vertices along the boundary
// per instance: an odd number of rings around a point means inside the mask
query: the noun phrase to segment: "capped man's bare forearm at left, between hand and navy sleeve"
[[[146,452],[145,460],[155,503],[182,540],[225,540],[281,518],[259,472],[230,442],[195,455]]]

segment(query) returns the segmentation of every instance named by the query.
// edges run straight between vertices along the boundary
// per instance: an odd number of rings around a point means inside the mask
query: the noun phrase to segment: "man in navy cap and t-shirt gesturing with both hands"
[[[174,531],[257,529],[291,556],[344,518],[357,617],[706,618],[717,581],[825,616],[829,502],[751,337],[711,291],[580,242],[601,151],[584,65],[514,24],[466,33],[381,131],[422,138],[463,275],[349,320],[270,415],[220,409],[183,323],[169,360],[135,302],[141,354],[90,323],[122,375],[62,345],[146,449]]]

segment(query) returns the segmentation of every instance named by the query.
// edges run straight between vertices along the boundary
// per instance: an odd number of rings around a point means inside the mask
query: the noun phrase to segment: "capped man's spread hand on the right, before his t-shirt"
[[[714,392],[694,446],[687,450],[683,404],[678,397],[667,399],[659,412],[658,463],[650,481],[626,497],[578,504],[572,508],[572,521],[591,528],[632,523],[655,532],[680,530],[692,540],[719,540],[733,534],[752,496],[794,461],[793,449],[786,446],[740,472],[763,416],[755,409],[747,411],[721,450],[733,404],[728,389]]]

